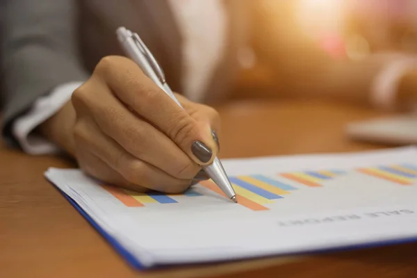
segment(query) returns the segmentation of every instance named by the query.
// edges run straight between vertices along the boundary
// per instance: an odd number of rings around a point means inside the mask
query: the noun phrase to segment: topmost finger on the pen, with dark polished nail
[[[107,57],[99,63],[97,72],[118,99],[165,133],[195,163],[206,165],[213,161],[217,145],[210,126],[202,126],[190,117],[133,61]]]

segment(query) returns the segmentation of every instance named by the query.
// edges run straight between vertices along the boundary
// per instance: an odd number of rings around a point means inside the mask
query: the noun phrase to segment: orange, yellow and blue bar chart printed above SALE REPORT
[[[363,167],[350,171],[320,170],[284,172],[272,175],[252,174],[229,177],[229,179],[234,187],[240,206],[245,206],[252,211],[268,211],[268,204],[283,199],[294,190],[322,188],[328,181],[345,174],[354,173],[365,174],[402,186],[410,186],[417,183],[417,166],[409,164]],[[199,186],[226,197],[222,190],[211,180],[201,181]],[[122,204],[129,207],[140,207],[147,204],[178,204],[179,202],[184,202],[184,199],[179,197],[200,197],[204,195],[197,192],[195,188],[190,188],[181,195],[165,195],[158,192],[138,193],[132,190],[104,185],[102,187]]]

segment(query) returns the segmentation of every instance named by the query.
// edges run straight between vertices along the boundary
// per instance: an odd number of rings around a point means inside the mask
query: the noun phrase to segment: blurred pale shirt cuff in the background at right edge
[[[375,77],[370,93],[370,101],[377,108],[391,110],[395,105],[398,85],[404,74],[417,68],[417,58],[399,57],[388,63]]]

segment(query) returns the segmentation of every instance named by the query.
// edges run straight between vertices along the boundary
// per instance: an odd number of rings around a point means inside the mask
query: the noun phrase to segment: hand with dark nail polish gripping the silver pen
[[[201,165],[218,153],[220,118],[213,108],[177,98],[185,111],[136,63],[108,56],[40,131],[101,181],[180,193],[207,179]]]

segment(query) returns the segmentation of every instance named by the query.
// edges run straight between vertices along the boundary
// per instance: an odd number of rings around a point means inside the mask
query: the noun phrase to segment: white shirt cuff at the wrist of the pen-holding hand
[[[82,83],[77,81],[58,85],[49,95],[36,99],[31,109],[13,122],[13,136],[15,136],[24,152],[40,155],[60,151],[52,142],[32,131],[69,101],[72,92],[79,88]]]

